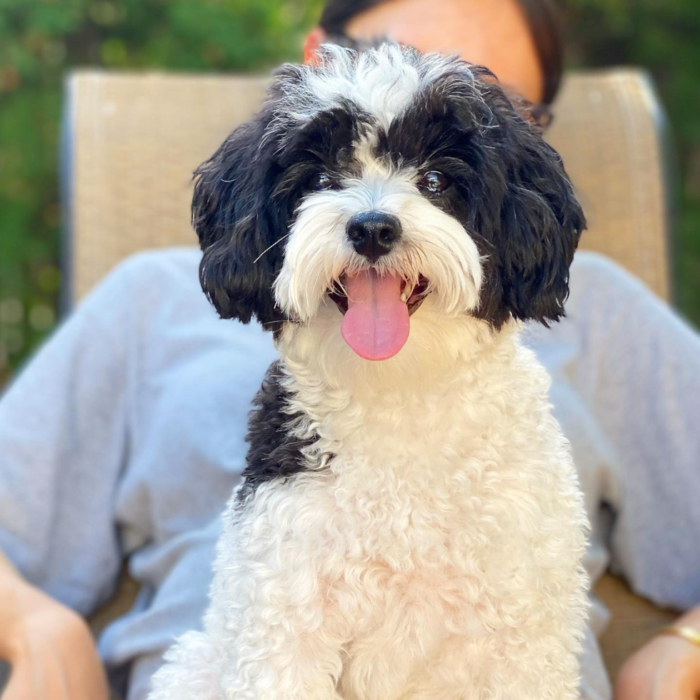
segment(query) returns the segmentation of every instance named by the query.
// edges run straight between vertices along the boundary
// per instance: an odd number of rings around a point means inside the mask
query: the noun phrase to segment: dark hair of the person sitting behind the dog
[[[329,36],[342,36],[349,19],[385,0],[328,0],[321,14],[321,29]],[[485,0],[491,1],[491,0]],[[542,101],[551,104],[564,70],[564,39],[561,12],[556,0],[517,0],[529,24],[544,76]]]

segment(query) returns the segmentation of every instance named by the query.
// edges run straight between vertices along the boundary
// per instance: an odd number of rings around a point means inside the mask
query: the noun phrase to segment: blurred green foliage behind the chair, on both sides
[[[322,0],[0,0],[0,386],[57,320],[58,145],[74,66],[261,71]],[[700,324],[700,0],[569,0],[574,66],[646,66],[673,130],[676,305]],[[193,235],[194,242],[194,235]]]

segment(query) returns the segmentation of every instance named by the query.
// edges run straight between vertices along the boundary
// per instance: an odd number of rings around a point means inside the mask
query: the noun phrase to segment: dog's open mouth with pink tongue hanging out
[[[399,275],[366,269],[344,274],[340,281],[341,289],[328,295],[344,316],[346,343],[367,360],[394,356],[409,339],[410,316],[429,293],[429,280],[421,275],[409,284]]]

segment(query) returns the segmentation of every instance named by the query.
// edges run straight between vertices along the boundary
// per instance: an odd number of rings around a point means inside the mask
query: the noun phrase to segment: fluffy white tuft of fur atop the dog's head
[[[279,119],[308,121],[319,111],[350,101],[385,129],[446,69],[466,64],[439,54],[421,55],[398,44],[383,44],[360,54],[326,44],[318,66],[300,66],[298,81],[282,84]]]

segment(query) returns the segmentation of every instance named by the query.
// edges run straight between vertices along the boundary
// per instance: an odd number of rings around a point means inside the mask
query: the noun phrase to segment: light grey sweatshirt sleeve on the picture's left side
[[[133,266],[113,271],[0,399],[0,549],[82,614],[121,564],[112,501],[129,441]]]

